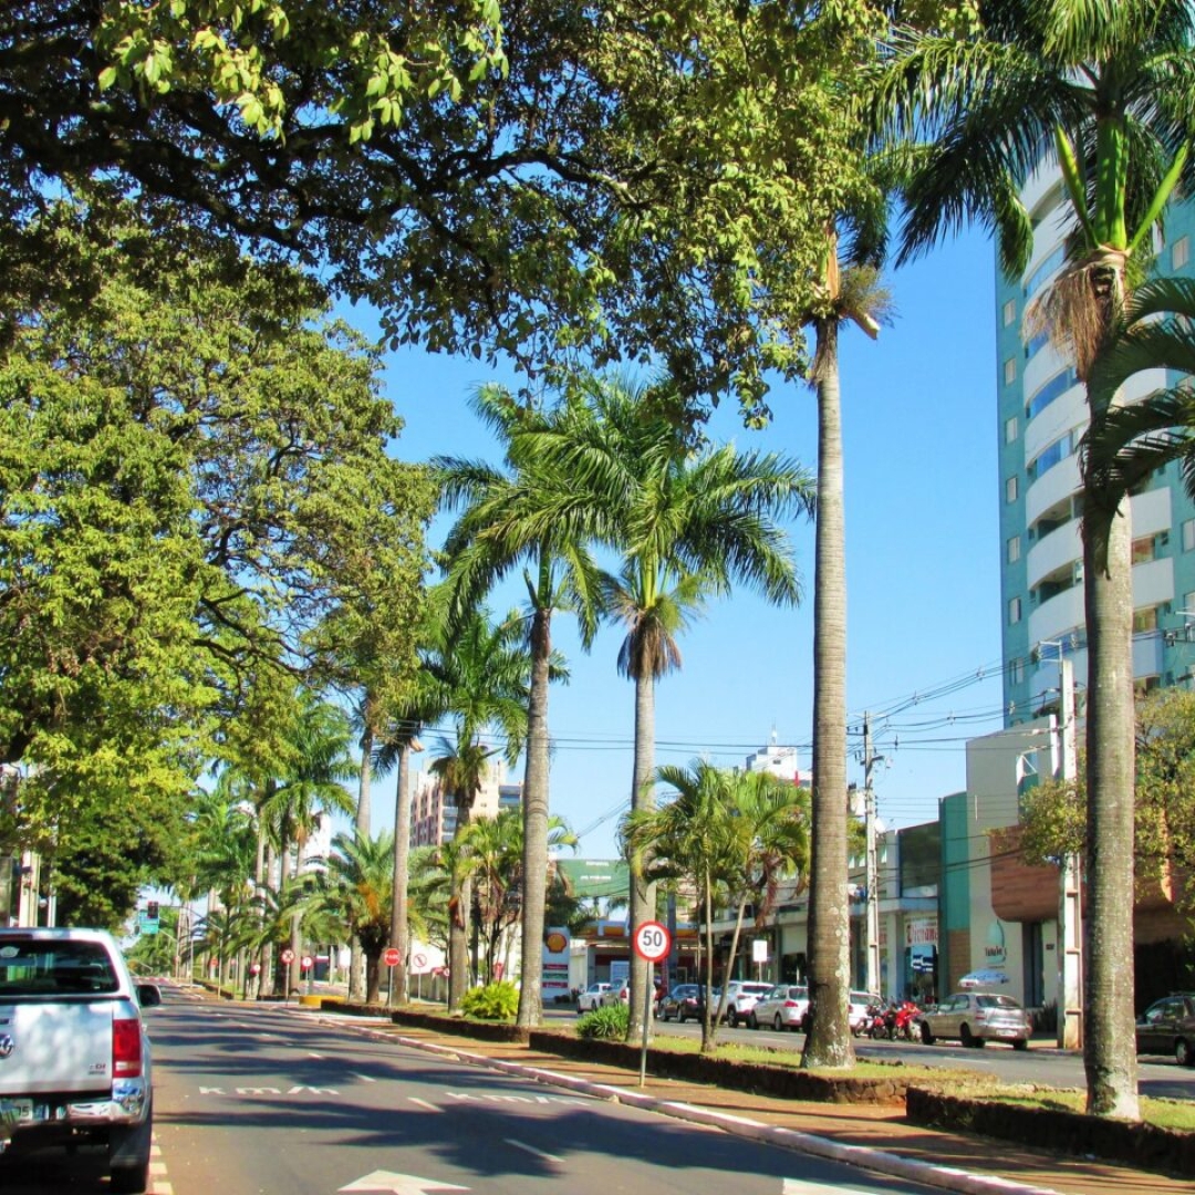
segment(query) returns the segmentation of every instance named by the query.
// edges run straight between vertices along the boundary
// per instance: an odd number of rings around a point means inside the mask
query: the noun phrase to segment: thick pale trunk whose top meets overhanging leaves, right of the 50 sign
[[[817,529],[814,578],[814,777],[809,887],[809,1007],[802,1066],[854,1061],[847,1021],[846,520],[838,323],[817,323]]]

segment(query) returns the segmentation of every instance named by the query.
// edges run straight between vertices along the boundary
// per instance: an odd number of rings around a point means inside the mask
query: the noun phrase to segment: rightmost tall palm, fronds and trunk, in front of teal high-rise
[[[1012,0],[985,7],[970,38],[900,30],[878,80],[878,124],[918,136],[901,257],[974,216],[1021,275],[1032,225],[1019,185],[1043,157],[1062,174],[1074,226],[1067,262],[1036,317],[1074,355],[1098,419],[1108,350],[1150,239],[1195,171],[1195,10],[1187,0]],[[1098,404],[1104,404],[1101,406]],[[1133,1036],[1133,660],[1128,509],[1084,476],[1087,679],[1087,908],[1084,1060],[1087,1110],[1136,1120]]]

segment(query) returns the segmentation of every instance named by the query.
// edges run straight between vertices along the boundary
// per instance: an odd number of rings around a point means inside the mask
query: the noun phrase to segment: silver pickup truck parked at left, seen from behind
[[[0,930],[0,1151],[106,1144],[111,1190],[145,1191],[153,1124],[149,1037],[102,930]]]

